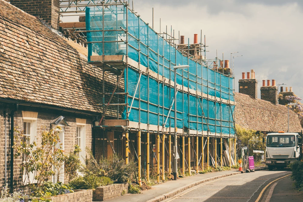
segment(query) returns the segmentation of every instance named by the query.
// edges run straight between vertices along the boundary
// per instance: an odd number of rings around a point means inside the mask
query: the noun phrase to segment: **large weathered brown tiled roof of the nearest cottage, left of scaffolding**
[[[102,71],[83,65],[84,47],[3,0],[0,8],[0,98],[102,112]],[[105,89],[112,79],[106,76]]]

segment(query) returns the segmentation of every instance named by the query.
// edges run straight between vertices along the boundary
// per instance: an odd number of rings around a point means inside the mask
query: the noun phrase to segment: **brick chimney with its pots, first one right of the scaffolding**
[[[247,78],[245,79],[245,72],[242,72],[242,79],[239,79],[239,93],[243,93],[251,96],[252,98],[258,98],[258,81],[254,77],[255,71],[251,70],[247,72]]]

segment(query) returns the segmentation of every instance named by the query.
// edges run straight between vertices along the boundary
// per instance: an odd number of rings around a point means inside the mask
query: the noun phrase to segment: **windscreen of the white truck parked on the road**
[[[294,147],[294,135],[268,135],[267,147]]]

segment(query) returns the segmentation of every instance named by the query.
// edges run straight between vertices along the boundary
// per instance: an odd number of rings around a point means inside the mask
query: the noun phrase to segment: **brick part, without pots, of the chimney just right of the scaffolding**
[[[257,99],[258,98],[257,79],[239,79],[239,93],[243,93]]]

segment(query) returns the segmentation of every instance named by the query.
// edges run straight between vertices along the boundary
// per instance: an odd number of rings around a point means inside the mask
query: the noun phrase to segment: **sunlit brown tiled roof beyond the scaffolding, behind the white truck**
[[[281,104],[272,104],[269,101],[254,99],[249,95],[236,93],[235,122],[241,127],[256,131],[287,131],[288,109]],[[290,132],[301,132],[302,127],[298,115],[289,110]]]

